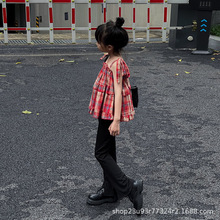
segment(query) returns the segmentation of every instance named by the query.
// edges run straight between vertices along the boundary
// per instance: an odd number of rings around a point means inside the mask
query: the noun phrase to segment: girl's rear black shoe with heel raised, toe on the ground
[[[141,210],[141,208],[143,207],[142,191],[143,191],[143,181],[142,180],[134,181],[131,193],[128,195],[128,197],[137,211]]]

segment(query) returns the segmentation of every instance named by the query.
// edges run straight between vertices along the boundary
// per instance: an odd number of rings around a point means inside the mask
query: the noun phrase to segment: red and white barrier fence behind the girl
[[[31,26],[31,11],[30,11],[30,4],[42,4],[46,3],[48,7],[48,27],[32,27]],[[54,11],[53,6],[55,4],[69,4],[69,7],[71,7],[71,25],[69,27],[54,27]],[[117,14],[118,16],[123,16],[122,9],[125,5],[130,5],[132,7],[132,21],[131,26],[124,27],[125,29],[129,30],[129,32],[132,33],[132,39],[133,42],[136,41],[136,32],[137,31],[146,31],[146,41],[150,41],[150,31],[156,30],[161,31],[162,34],[162,41],[166,41],[166,34],[168,29],[168,1],[167,0],[0,0],[0,4],[2,5],[2,20],[3,25],[0,27],[0,31],[4,33],[4,43],[8,43],[8,32],[9,31],[23,31],[26,33],[27,37],[27,43],[31,43],[31,35],[34,31],[48,31],[49,32],[49,41],[50,43],[54,43],[54,31],[69,31],[72,33],[72,43],[76,43],[76,32],[77,31],[88,31],[88,42],[91,42],[92,40],[92,31],[96,29],[96,27],[92,26],[92,18],[93,18],[93,12],[92,12],[92,5],[93,4],[101,4],[103,9],[103,15],[102,15],[102,21],[106,22],[107,19],[107,5],[110,4],[116,4],[117,5]],[[26,26],[25,27],[8,27],[8,15],[7,15],[7,6],[8,4],[23,4],[25,7],[25,20],[26,20]],[[87,27],[78,27],[76,26],[76,5],[77,4],[84,4],[87,5],[87,15],[88,21],[87,21]],[[144,27],[139,27],[136,23],[136,19],[138,16],[142,16],[141,14],[137,13],[137,5],[142,4],[143,7],[145,7],[144,10],[146,10],[147,18],[145,21]],[[155,4],[162,4],[163,7],[163,16],[162,16],[162,25],[160,27],[151,26],[151,7]],[[85,15],[81,15],[85,16]]]

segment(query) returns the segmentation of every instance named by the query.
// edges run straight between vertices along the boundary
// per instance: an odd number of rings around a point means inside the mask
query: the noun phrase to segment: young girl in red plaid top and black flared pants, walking
[[[143,206],[143,181],[128,178],[116,161],[115,136],[120,134],[120,122],[134,118],[134,107],[129,83],[129,69],[121,57],[128,44],[128,34],[122,28],[123,18],[98,26],[97,47],[106,52],[103,67],[93,85],[89,112],[99,120],[95,157],[103,169],[104,182],[97,193],[90,194],[87,203],[100,205],[116,202],[128,196],[136,210]]]

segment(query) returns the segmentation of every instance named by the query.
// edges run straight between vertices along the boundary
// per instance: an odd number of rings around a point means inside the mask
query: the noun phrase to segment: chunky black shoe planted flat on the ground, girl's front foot
[[[104,196],[104,188],[101,188],[97,193],[90,194],[87,198],[87,203],[89,205],[101,205],[103,203],[116,202],[117,198],[112,196]]]

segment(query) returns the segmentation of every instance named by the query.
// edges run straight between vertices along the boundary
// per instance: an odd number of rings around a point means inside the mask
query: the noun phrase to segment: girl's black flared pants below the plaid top
[[[128,178],[117,165],[115,137],[109,133],[110,120],[99,119],[95,157],[103,169],[105,196],[127,196],[133,180]]]

